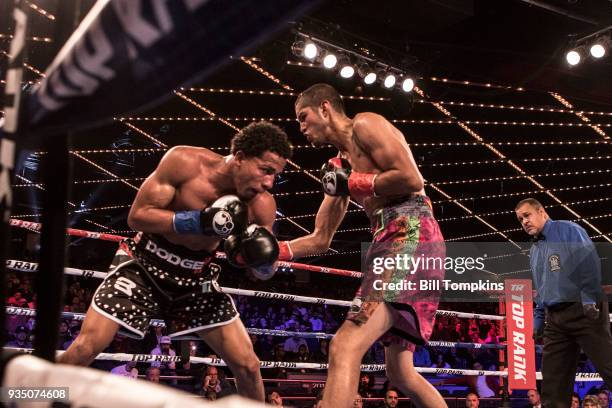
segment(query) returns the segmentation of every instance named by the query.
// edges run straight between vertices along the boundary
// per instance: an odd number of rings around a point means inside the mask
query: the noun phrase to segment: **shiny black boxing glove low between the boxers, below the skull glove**
[[[278,241],[266,228],[251,224],[240,235],[230,235],[223,245],[228,261],[238,268],[251,268],[259,279],[270,279],[278,259]]]

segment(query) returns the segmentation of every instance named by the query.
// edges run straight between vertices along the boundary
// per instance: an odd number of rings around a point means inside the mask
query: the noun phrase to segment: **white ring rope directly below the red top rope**
[[[38,264],[34,262],[17,261],[10,259],[6,261],[6,267],[9,269],[15,269],[23,272],[35,272],[38,270]],[[86,269],[77,268],[65,268],[67,275],[83,276],[83,277],[94,277],[103,279],[108,275],[106,272],[92,271]],[[275,292],[263,292],[258,290],[246,290],[246,289],[235,289],[220,287],[224,293],[240,296],[252,296],[263,299],[276,299],[276,300],[287,300],[291,302],[302,302],[302,303],[314,303],[318,305],[333,305],[333,306],[344,306],[350,307],[351,301],[348,300],[336,300],[326,298],[316,298],[310,296],[299,296],[290,295],[286,293],[275,293]],[[466,312],[455,312],[450,310],[437,310],[436,316],[448,316],[448,317],[460,317],[465,319],[486,319],[486,320],[505,320],[504,316],[479,314],[479,313],[466,313]]]

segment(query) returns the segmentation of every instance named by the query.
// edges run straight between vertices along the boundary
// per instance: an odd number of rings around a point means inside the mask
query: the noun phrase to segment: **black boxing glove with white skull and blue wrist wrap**
[[[179,234],[203,234],[227,237],[242,232],[248,223],[248,208],[235,195],[217,199],[202,211],[177,211],[172,218]]]

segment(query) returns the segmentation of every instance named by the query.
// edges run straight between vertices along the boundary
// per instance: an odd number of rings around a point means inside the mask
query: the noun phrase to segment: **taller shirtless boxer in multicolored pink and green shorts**
[[[300,131],[310,143],[331,144],[339,153],[322,168],[326,195],[314,232],[281,242],[279,259],[325,252],[344,218],[349,196],[363,206],[374,232],[360,292],[330,345],[323,406],[352,405],[363,355],[382,338],[389,381],[419,406],[446,407],[412,362],[414,344],[424,344],[431,335],[439,290],[397,290],[382,285],[441,280],[443,267],[438,262],[439,268],[416,268],[414,274],[402,268],[383,268],[377,271],[380,273],[373,269],[376,257],[416,254],[443,262],[445,256],[444,240],[433,218],[431,201],[425,196],[423,177],[404,135],[375,113],[349,118],[342,98],[327,84],[313,85],[302,92],[295,102],[295,113]],[[380,282],[374,286],[376,280]]]

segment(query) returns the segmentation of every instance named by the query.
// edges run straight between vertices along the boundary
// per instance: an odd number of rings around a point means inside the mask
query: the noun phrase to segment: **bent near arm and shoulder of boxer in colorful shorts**
[[[397,196],[423,189],[423,177],[410,148],[396,139],[396,129],[388,120],[365,112],[355,116],[353,127],[359,146],[382,169],[375,181],[377,195]]]

